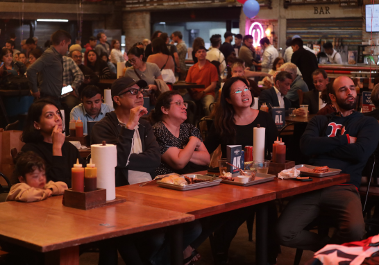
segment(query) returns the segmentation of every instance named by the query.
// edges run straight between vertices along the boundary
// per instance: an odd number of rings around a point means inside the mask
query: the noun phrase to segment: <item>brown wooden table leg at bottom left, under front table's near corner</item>
[[[46,253],[45,265],[79,265],[79,246],[71,246]]]

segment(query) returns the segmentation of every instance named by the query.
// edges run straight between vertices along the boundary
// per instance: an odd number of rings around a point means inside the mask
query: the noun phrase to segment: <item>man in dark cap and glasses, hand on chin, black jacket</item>
[[[145,80],[122,77],[112,84],[115,111],[108,112],[92,128],[92,142],[117,146],[116,187],[145,182],[155,177],[160,165],[160,147],[149,121],[141,119]]]

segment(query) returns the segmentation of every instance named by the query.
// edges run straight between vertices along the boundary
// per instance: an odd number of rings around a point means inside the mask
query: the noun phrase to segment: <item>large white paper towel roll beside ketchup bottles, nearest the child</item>
[[[92,162],[97,167],[97,188],[107,190],[107,200],[116,198],[117,148],[113,144],[92,144]]]

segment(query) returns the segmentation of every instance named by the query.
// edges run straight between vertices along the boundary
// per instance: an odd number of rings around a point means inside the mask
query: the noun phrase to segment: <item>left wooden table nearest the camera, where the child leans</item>
[[[0,240],[47,253],[47,264],[79,264],[79,245],[194,220],[194,216],[127,201],[93,210],[62,205],[62,196],[37,203],[0,203]],[[178,242],[176,242],[178,243]],[[182,245],[183,243],[178,243]],[[183,264],[183,249],[177,249]]]

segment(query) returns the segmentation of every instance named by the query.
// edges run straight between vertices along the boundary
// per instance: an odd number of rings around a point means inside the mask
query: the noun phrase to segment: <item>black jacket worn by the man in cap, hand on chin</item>
[[[129,185],[128,170],[148,172],[154,178],[154,171],[160,165],[160,147],[153,129],[148,121],[140,119],[139,122],[138,132],[142,142],[142,153],[139,154],[130,154],[134,130],[121,126],[115,112],[108,112],[92,128],[92,143],[106,141],[107,144],[117,146],[116,187]]]

